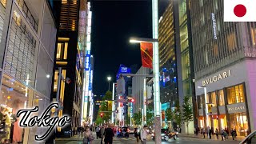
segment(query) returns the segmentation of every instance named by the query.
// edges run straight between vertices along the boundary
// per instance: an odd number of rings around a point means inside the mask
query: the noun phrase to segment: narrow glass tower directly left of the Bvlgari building
[[[176,30],[176,58],[178,72],[178,98],[182,106],[185,96],[189,96],[193,104],[193,113],[196,114],[196,97],[194,89],[194,58],[191,38],[191,20],[190,20],[190,0],[174,1],[174,15],[177,15],[175,21]],[[194,132],[194,127],[197,127],[197,119],[194,117],[194,122],[190,122],[188,126],[189,133]],[[187,127],[183,126],[184,131]]]

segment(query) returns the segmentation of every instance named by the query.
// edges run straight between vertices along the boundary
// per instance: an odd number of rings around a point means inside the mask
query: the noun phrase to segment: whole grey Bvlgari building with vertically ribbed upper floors
[[[256,23],[223,22],[223,1],[190,3],[196,116],[199,127],[242,136],[256,126]]]

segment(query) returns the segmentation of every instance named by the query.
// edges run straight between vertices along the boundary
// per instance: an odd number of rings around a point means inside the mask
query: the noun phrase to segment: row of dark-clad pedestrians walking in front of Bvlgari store
[[[219,137],[219,134],[221,134],[222,136],[222,141],[225,141],[226,139],[229,138],[229,136],[231,135],[232,136],[232,139],[235,140],[236,136],[237,136],[237,132],[235,129],[231,129],[231,130],[228,130],[227,128],[225,129],[222,129],[222,130],[218,130],[218,128],[216,128],[214,130],[214,128],[210,127],[210,126],[207,126],[206,128],[205,127],[202,127],[201,130],[199,127],[197,128],[194,128],[194,134],[198,135],[198,134],[202,134],[203,138],[209,138],[211,139],[212,138],[212,135],[215,134],[216,135],[216,138],[218,139]]]

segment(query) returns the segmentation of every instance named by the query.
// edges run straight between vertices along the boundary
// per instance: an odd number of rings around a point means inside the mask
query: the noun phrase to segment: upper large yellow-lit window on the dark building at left
[[[57,60],[66,60],[68,42],[58,42],[57,46]]]

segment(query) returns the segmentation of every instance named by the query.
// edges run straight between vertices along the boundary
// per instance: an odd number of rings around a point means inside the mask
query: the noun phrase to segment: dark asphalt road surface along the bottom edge
[[[100,144],[101,140],[100,139],[95,139],[93,144]],[[114,138],[113,141],[114,144],[135,144],[136,140],[133,136],[130,138]],[[146,142],[147,144],[154,144],[154,141],[148,141]],[[177,140],[170,140],[169,142],[162,142],[162,143],[178,143],[178,144],[203,144],[203,143],[225,143],[225,144],[238,144],[238,141],[221,141],[221,140],[210,140],[210,139],[202,139],[202,138],[178,138]],[[82,144],[81,140],[77,141],[57,141],[56,144]]]

